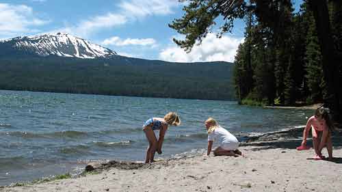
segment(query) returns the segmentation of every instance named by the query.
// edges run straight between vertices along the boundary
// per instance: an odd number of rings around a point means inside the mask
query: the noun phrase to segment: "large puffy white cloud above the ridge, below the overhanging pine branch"
[[[198,61],[234,61],[237,47],[244,38],[231,38],[222,36],[216,38],[214,33],[209,33],[199,46],[194,46],[192,52],[186,53],[176,45],[169,46],[159,53],[159,59],[173,62],[198,62]]]

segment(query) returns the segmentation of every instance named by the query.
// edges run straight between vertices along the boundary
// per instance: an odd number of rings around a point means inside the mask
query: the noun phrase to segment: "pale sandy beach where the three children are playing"
[[[245,143],[246,158],[194,154],[151,165],[118,163],[98,174],[0,191],[341,191],[341,134],[333,137],[334,160],[315,161],[312,149],[295,150],[294,133],[300,129]]]

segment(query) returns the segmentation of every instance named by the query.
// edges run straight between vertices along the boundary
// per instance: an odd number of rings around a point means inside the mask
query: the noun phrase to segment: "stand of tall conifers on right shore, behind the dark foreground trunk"
[[[329,4],[330,15],[334,6]],[[307,3],[293,13],[283,5],[278,31],[246,16],[245,42],[235,57],[235,87],[241,102],[295,105],[324,102],[328,95],[315,18]],[[336,22],[336,23],[335,23]],[[334,39],[341,40],[342,20],[331,19]],[[341,71],[340,71],[341,74]]]

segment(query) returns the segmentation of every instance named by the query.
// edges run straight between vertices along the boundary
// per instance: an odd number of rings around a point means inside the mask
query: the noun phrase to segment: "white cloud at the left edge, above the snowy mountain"
[[[13,36],[17,33],[36,32],[40,25],[49,23],[34,15],[27,5],[10,5],[0,3],[0,36]]]

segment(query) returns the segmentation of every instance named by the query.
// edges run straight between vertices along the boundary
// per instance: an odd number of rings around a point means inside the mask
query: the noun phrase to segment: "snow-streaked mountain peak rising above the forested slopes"
[[[0,44],[10,45],[15,51],[23,51],[40,56],[57,55],[61,57],[93,59],[118,55],[115,51],[68,33],[47,33],[40,36],[18,37],[3,40]]]

